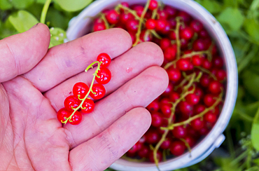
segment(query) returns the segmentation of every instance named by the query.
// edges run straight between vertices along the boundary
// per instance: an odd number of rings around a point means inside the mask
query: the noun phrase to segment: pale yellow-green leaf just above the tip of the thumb
[[[31,13],[28,13],[27,11],[18,11],[18,13],[10,15],[8,20],[20,33],[26,32],[38,23],[38,20],[34,15],[31,15]]]

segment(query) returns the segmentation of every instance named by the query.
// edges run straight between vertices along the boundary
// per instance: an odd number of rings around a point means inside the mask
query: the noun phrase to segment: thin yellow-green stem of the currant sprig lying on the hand
[[[90,64],[90,65],[85,69],[85,72],[87,72],[88,69],[92,68],[92,66],[93,66],[94,64],[98,64],[98,66],[97,66],[97,69],[94,71],[94,74],[92,74],[94,77],[92,78],[92,83],[91,83],[91,86],[90,86],[90,88],[89,88],[87,94],[86,94],[85,97],[83,98],[83,100],[82,100],[82,102],[80,103],[80,105],[79,105],[76,109],[73,109],[73,113],[71,114],[71,116],[69,116],[69,118],[66,118],[66,121],[64,121],[64,122],[62,121],[62,123],[66,124],[68,121],[71,122],[71,118],[72,118],[73,115],[76,113],[76,111],[78,111],[78,109],[80,109],[80,108],[82,107],[82,105],[83,105],[83,103],[85,102],[86,99],[89,99],[88,96],[89,96],[90,93],[92,92],[92,86],[94,85],[95,76],[97,76],[97,73],[98,73],[98,71],[100,70],[100,67],[101,67],[102,62],[99,62],[99,61],[92,62],[92,64]],[[93,92],[92,92],[92,93],[93,93]],[[78,97],[78,99],[80,99],[80,98]]]

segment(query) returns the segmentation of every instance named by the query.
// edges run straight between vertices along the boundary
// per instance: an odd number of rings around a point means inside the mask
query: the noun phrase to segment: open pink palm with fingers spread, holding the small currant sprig
[[[105,170],[151,125],[144,109],[168,85],[162,51],[132,47],[123,29],[109,29],[48,49],[48,27],[0,41],[0,170]],[[73,85],[90,85],[84,69],[99,53],[113,58],[106,97],[79,125],[62,126],[57,111]]]

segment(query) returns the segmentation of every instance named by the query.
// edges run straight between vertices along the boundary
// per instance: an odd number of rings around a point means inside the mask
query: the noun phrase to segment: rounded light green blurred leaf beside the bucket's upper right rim
[[[225,8],[217,17],[221,24],[228,25],[232,30],[239,30],[244,23],[244,15],[238,8]]]

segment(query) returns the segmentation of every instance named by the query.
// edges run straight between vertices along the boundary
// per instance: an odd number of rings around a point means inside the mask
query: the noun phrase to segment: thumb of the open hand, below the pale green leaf
[[[27,32],[0,41],[0,83],[25,74],[45,56],[50,31],[38,23]]]

